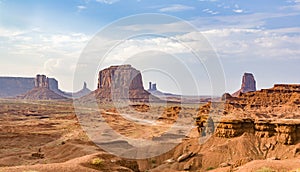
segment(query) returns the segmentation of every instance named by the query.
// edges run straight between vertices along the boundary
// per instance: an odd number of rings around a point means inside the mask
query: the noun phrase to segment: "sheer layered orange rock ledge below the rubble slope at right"
[[[294,144],[300,140],[300,120],[285,119],[222,119],[216,129],[217,137],[232,138],[252,133],[259,138],[275,137],[281,144]]]

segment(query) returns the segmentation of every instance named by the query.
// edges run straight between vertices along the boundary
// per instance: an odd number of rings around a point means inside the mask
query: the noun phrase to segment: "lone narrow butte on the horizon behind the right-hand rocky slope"
[[[233,97],[238,97],[241,93],[256,91],[256,81],[252,73],[244,73],[241,89],[233,93]]]

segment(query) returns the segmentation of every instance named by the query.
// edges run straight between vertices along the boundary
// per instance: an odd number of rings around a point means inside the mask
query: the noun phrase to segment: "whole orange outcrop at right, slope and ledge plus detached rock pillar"
[[[250,133],[258,138],[275,138],[277,143],[295,144],[300,140],[300,85],[275,84],[273,88],[242,93],[239,97],[224,94],[223,115],[214,121],[215,136],[232,138]],[[203,133],[209,113],[208,103],[199,108],[196,124]]]

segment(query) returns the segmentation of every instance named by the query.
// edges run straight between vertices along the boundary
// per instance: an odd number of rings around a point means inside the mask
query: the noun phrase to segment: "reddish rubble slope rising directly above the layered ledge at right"
[[[300,118],[300,85],[275,84],[270,89],[227,99],[224,114],[253,118]]]

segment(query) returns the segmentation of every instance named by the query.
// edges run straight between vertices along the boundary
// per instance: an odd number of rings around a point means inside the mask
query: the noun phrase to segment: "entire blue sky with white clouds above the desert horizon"
[[[258,89],[300,83],[300,1],[0,0],[0,58],[0,76],[46,74],[65,91],[95,89],[99,70],[125,63],[144,87],[187,95],[232,93],[244,72]]]

